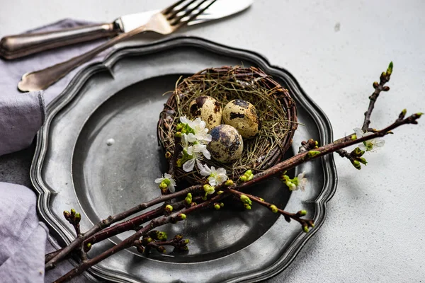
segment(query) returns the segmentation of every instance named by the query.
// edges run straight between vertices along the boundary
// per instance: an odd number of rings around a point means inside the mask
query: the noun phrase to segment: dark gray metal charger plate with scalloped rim
[[[324,112],[302,91],[292,75],[273,67],[261,55],[197,37],[174,37],[140,47],[114,51],[103,63],[91,64],[74,77],[47,108],[37,138],[30,176],[38,192],[40,216],[60,243],[74,238],[62,216],[65,209],[82,212],[86,231],[110,214],[159,195],[154,179],[166,167],[157,144],[159,112],[180,76],[223,65],[255,66],[288,88],[297,103],[298,127],[292,149],[300,141],[332,141]],[[112,145],[107,140],[113,139]],[[140,255],[123,250],[91,268],[113,282],[256,282],[285,269],[306,241],[322,226],[326,204],[336,190],[332,156],[298,166],[306,171],[305,192],[288,192],[278,180],[253,187],[266,200],[289,212],[306,209],[316,227],[302,232],[295,221],[255,206],[205,210],[186,221],[165,226],[169,236],[183,233],[191,240],[187,254]],[[94,256],[122,241],[129,232],[96,244]]]

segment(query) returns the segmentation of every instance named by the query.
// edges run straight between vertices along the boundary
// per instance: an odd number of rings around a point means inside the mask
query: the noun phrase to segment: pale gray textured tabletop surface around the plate
[[[113,20],[172,0],[0,0],[0,37],[61,18]],[[184,33],[260,52],[285,67],[327,112],[340,137],[361,126],[371,84],[395,62],[372,116],[392,122],[402,108],[424,111],[423,1],[256,1],[246,13]],[[37,16],[34,16],[37,15]],[[25,18],[25,21],[21,19]],[[322,229],[270,282],[421,282],[423,275],[424,122],[397,129],[356,171],[336,158],[339,189]],[[29,185],[32,150],[0,158],[0,180]]]

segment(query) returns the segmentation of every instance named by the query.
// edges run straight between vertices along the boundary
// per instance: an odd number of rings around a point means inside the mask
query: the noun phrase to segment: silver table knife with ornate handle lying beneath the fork
[[[217,0],[214,5],[198,16],[189,25],[205,23],[231,16],[244,11],[254,0]],[[113,23],[83,25],[77,28],[55,30],[47,33],[28,33],[8,35],[0,40],[0,57],[16,59],[57,47],[73,45],[79,42],[96,40],[102,37],[113,37],[127,33],[140,25],[147,23],[149,18],[158,11],[133,13],[117,18]]]

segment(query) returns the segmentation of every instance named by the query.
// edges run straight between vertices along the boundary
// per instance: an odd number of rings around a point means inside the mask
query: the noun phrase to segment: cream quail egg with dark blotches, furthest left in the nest
[[[211,96],[198,96],[189,104],[189,117],[195,119],[200,117],[208,129],[221,124],[222,109],[220,103]]]

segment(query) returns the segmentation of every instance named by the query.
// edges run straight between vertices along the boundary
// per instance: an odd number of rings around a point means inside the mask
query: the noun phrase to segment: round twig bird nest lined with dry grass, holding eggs
[[[179,117],[193,117],[190,109],[193,100],[199,96],[210,96],[220,103],[222,109],[235,99],[251,103],[261,126],[255,137],[243,139],[242,156],[232,163],[218,162],[214,158],[204,158],[203,163],[210,167],[225,168],[229,178],[234,179],[246,170],[251,169],[256,173],[281,161],[297,129],[297,110],[288,90],[255,67],[205,69],[179,81],[164,104],[157,129],[159,143],[171,156],[174,154],[174,134],[180,122]],[[197,170],[195,168],[187,173],[177,168],[175,177],[195,183],[203,179]]]

